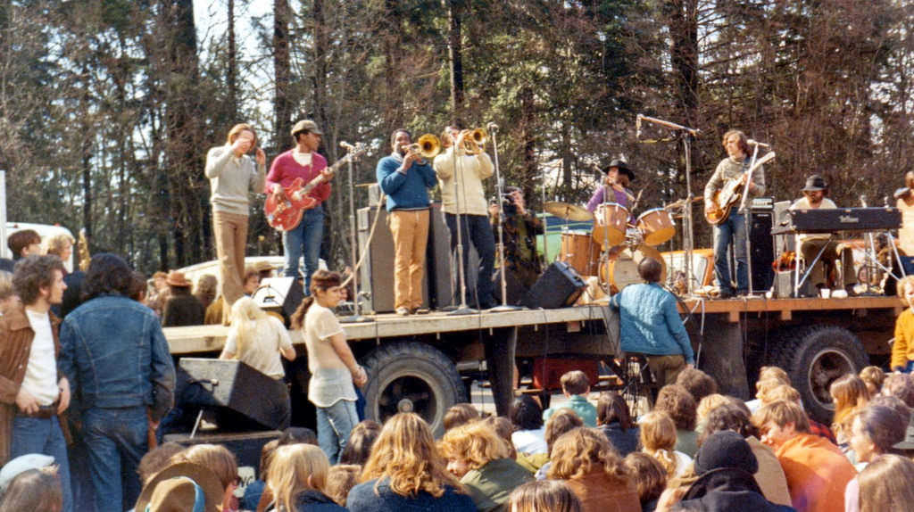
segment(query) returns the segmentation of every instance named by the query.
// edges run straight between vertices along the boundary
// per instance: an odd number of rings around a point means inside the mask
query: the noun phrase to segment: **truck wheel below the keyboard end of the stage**
[[[827,324],[787,330],[781,343],[772,363],[790,375],[806,413],[820,423],[832,423],[832,382],[869,364],[863,344],[851,331]]]

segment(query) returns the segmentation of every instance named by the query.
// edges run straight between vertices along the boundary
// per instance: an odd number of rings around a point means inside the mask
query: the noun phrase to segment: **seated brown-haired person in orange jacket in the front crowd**
[[[799,405],[768,403],[752,416],[752,423],[781,461],[794,508],[828,512],[845,507],[845,488],[856,470],[837,446],[809,433],[809,419]]]

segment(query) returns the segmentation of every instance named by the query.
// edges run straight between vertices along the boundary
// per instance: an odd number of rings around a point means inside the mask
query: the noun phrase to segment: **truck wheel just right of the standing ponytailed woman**
[[[444,413],[465,402],[463,382],[452,360],[423,343],[382,345],[365,359],[367,418],[384,423],[396,413],[417,413],[435,435],[444,432]]]

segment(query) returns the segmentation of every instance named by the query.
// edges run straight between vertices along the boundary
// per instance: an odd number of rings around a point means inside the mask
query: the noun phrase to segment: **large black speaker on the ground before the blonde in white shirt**
[[[181,358],[177,370],[178,405],[202,407],[220,430],[282,430],[289,426],[285,383],[239,360]]]

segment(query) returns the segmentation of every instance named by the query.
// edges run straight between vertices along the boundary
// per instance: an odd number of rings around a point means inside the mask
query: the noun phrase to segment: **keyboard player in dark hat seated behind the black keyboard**
[[[806,179],[806,186],[802,188],[803,196],[791,204],[791,210],[810,210],[817,208],[837,208],[834,201],[825,197],[828,195],[828,183],[819,174],[813,174]],[[839,244],[830,235],[799,234],[797,245],[800,253],[807,262],[812,262],[820,252],[819,261],[813,266],[809,278],[816,288],[828,287],[825,269],[834,267],[834,261],[841,257],[841,275],[848,296],[856,296],[856,272],[854,271],[854,251],[850,246]],[[840,254],[839,254],[840,253]]]

